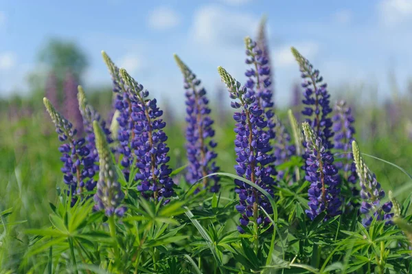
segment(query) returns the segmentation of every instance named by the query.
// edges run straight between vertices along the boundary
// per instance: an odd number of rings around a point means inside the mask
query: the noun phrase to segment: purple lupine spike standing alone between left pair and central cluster
[[[186,150],[190,163],[186,179],[193,184],[203,178],[203,187],[209,187],[211,192],[218,192],[219,177],[217,175],[205,177],[219,170],[215,161],[218,155],[214,152],[217,146],[213,138],[214,121],[209,116],[211,110],[208,106],[206,90],[200,86],[201,80],[196,78],[179,56],[175,54],[174,59],[183,73],[186,90]]]

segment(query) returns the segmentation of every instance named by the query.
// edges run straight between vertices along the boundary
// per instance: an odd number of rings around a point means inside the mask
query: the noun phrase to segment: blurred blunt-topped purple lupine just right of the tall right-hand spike
[[[336,163],[336,168],[343,170],[344,178],[354,184],[357,180],[356,165],[350,152],[352,152],[352,141],[354,141],[355,128],[353,123],[355,119],[345,101],[336,102],[334,110],[335,115],[332,118],[334,122],[334,148],[341,150],[344,154],[340,157],[345,159],[345,161]],[[356,188],[352,190],[356,191]]]

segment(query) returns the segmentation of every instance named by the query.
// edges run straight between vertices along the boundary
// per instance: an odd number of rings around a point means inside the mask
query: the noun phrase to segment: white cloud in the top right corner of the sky
[[[412,19],[412,0],[382,0],[378,10],[385,25],[396,25]]]

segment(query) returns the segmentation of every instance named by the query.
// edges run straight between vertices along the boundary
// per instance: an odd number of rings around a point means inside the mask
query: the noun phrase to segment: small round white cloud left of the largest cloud
[[[148,25],[154,30],[170,30],[181,23],[181,17],[175,10],[160,6],[150,12]]]

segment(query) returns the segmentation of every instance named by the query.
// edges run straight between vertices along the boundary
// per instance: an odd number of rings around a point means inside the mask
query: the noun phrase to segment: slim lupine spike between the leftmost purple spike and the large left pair
[[[111,132],[106,126],[106,122],[104,119],[100,117],[100,114],[93,109],[93,106],[89,105],[87,102],[86,94],[84,94],[84,91],[81,86],[78,86],[78,102],[79,102],[79,107],[80,107],[80,113],[82,113],[83,117],[83,124],[84,124],[84,131],[86,133],[86,147],[89,149],[90,154],[89,157],[93,159],[93,164],[90,164],[87,168],[84,167],[83,172],[89,172],[91,175],[91,178],[93,178],[95,172],[99,170],[99,155],[98,155],[98,150],[96,149],[96,144],[95,144],[95,133],[93,130],[93,121],[98,121],[100,126],[102,127],[102,130],[104,131],[104,134],[106,135],[106,141],[108,144],[111,144],[113,142],[113,139],[111,139]],[[92,175],[93,174],[93,175]],[[89,180],[86,183],[86,188],[87,190],[93,190],[97,182],[93,181],[93,179]]]

